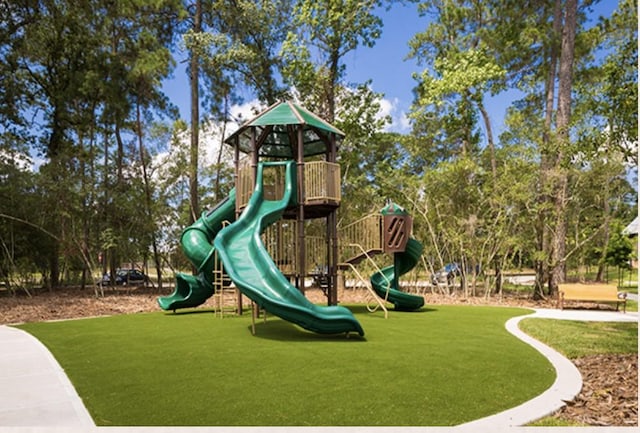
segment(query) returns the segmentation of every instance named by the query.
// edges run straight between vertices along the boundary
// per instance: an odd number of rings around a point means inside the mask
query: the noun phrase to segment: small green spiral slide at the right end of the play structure
[[[409,238],[402,253],[394,253],[391,266],[382,268],[371,276],[371,286],[381,298],[387,299],[399,311],[414,311],[424,305],[422,296],[412,295],[398,289],[398,279],[415,267],[422,254],[422,244]],[[388,291],[387,291],[388,290]]]

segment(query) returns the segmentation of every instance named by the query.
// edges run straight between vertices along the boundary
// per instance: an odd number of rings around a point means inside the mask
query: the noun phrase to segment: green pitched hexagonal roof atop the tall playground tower
[[[245,122],[225,143],[232,146],[238,143],[241,152],[250,153],[252,130],[255,129],[260,156],[293,158],[300,126],[304,156],[326,153],[330,146],[330,134],[344,137],[344,133],[338,128],[302,106],[293,102],[279,102]]]

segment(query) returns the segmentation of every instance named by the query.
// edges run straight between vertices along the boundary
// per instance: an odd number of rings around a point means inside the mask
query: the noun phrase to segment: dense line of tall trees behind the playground
[[[84,287],[142,262],[162,284],[188,267],[180,231],[233,179],[221,145],[203,161],[203,134],[229,132],[247,95],[298,99],[344,131],[341,224],[393,199],[424,267],[459,263],[463,290],[500,290],[514,267],[535,270],[537,296],[568,269],[604,278],[637,209],[637,2],[596,19],[590,0],[413,2],[422,69],[398,77],[414,100],[410,130],[392,133],[384,95],[348,82],[345,58],[399,3],[0,2],[0,279]],[[162,90],[178,62],[188,121]],[[496,131],[487,99],[508,91],[521,96]]]

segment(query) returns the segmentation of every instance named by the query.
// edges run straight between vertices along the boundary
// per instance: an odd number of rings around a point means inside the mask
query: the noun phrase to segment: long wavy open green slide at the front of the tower
[[[285,188],[280,200],[266,200],[263,196],[263,170],[269,166],[285,166]],[[296,203],[295,168],[294,161],[260,163],[249,204],[235,223],[218,233],[214,246],[229,277],[260,308],[319,334],[357,332],[364,335],[349,309],[315,305],[291,285],[260,238],[289,205]]]

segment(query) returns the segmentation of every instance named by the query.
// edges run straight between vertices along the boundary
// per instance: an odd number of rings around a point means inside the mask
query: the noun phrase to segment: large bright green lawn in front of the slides
[[[365,338],[269,317],[150,313],[19,327],[54,354],[97,425],[447,426],[547,389],[552,366],[507,333],[516,308],[370,314]]]

